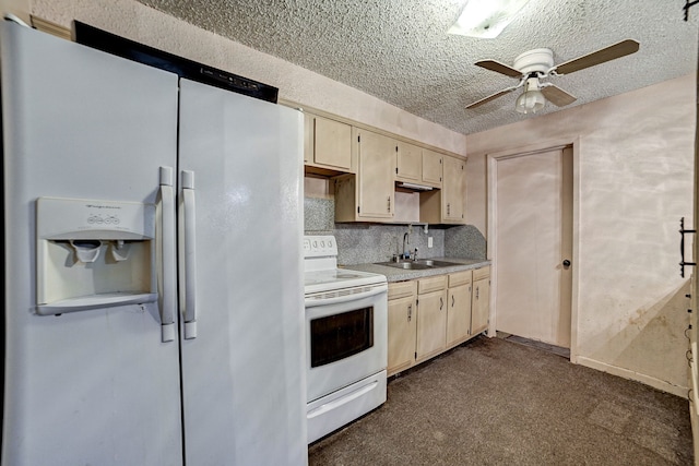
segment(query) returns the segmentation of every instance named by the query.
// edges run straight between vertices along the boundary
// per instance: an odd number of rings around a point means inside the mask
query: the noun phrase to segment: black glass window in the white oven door
[[[310,321],[310,367],[329,365],[374,346],[374,307]]]

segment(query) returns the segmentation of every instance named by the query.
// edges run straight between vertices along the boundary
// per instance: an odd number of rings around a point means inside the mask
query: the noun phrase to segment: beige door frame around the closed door
[[[496,335],[497,327],[497,188],[498,163],[513,157],[524,157],[544,151],[572,147],[572,289],[570,302],[570,362],[578,362],[578,296],[579,296],[579,252],[580,252],[580,139],[558,139],[536,144],[517,146],[498,152],[486,152],[487,177],[487,249],[486,258],[490,261],[490,322],[488,335]]]

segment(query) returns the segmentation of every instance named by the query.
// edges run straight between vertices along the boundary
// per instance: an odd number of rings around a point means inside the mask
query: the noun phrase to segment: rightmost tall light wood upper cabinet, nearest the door
[[[419,195],[419,220],[428,224],[463,225],[466,201],[466,160],[442,156],[441,190]]]

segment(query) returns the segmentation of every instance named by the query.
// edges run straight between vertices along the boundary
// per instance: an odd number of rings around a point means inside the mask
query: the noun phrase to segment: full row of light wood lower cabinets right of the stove
[[[488,326],[490,267],[389,284],[388,374],[466,342]]]

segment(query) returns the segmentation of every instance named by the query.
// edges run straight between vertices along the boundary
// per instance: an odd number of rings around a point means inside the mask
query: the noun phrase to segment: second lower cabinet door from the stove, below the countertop
[[[447,339],[447,292],[433,291],[417,297],[417,360],[438,355]]]

